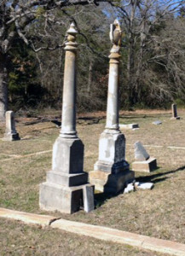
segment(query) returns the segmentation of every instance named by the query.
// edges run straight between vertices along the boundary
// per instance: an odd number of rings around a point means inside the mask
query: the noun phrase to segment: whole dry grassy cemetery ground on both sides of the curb
[[[84,143],[85,172],[93,171],[98,157],[98,141],[105,126],[104,114],[85,114],[78,119],[78,137]],[[53,117],[55,115],[53,113]],[[0,207],[50,214],[185,244],[185,110],[178,110],[178,115],[180,120],[171,120],[171,111],[121,112],[121,124],[140,125],[139,130],[123,131],[126,160],[134,161],[136,141],[157,158],[158,170],[136,172],[136,180],[153,182],[154,188],[111,198],[96,193],[95,211],[79,211],[72,215],[44,212],[38,206],[39,183],[45,181],[46,172],[51,169],[52,146],[60,130],[49,121],[34,124],[38,119],[17,118],[16,130],[21,140],[0,141]],[[162,121],[162,125],[153,125],[155,120]],[[3,132],[2,125],[1,137]],[[0,219],[0,224],[3,255],[58,255],[59,252],[63,253],[60,255],[163,255],[15,221]],[[72,253],[74,251],[76,254]]]

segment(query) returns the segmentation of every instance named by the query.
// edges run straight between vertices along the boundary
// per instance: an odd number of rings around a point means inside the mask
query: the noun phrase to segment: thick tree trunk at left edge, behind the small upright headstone
[[[5,120],[8,110],[8,71],[6,55],[0,53],[0,121]]]

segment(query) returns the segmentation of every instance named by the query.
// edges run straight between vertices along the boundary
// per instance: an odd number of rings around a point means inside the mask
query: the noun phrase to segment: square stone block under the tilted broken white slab
[[[135,172],[153,172],[158,168],[156,158],[152,157],[146,161],[135,161],[131,166],[132,170]]]

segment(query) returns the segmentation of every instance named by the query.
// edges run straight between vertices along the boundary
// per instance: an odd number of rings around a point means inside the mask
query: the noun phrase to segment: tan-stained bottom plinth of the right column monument
[[[119,172],[112,174],[110,172],[92,171],[89,172],[90,183],[95,185],[95,189],[113,195],[118,194],[127,183],[134,181],[135,173],[132,171]]]

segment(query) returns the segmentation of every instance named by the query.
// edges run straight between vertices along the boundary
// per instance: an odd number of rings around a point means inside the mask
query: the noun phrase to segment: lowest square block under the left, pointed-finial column
[[[84,186],[90,187],[90,184],[66,187],[55,183],[41,183],[39,206],[45,211],[59,211],[70,214],[78,212],[80,207],[83,206]]]

